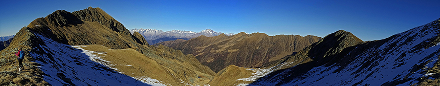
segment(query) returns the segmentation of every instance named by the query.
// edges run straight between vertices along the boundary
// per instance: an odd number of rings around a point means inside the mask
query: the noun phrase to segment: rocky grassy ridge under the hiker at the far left
[[[17,56],[14,55],[17,52],[17,47],[22,47],[25,53],[29,52],[32,48],[35,48],[41,41],[33,34],[32,29],[29,27],[23,27],[11,40],[9,46],[0,51],[0,86],[48,86],[43,77],[44,72],[37,66],[41,64],[35,63],[36,60],[33,57],[25,54],[23,59],[24,70],[18,72]],[[23,72],[29,71],[29,72]],[[38,77],[40,76],[40,77]]]

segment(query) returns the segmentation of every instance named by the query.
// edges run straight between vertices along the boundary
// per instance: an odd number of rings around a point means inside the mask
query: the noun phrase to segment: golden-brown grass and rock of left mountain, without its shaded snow
[[[0,86],[14,83],[17,85],[47,85],[47,82],[42,80],[44,73],[35,67],[39,64],[30,62],[33,61],[32,58],[29,58],[29,62],[27,62],[28,59],[24,59],[24,63],[29,64],[32,69],[29,71],[30,74],[27,74],[13,72],[17,70],[15,65],[12,65],[15,64],[16,59],[8,56],[12,54],[12,48],[19,45],[28,46],[29,51],[40,52],[33,48],[44,43],[34,35],[35,33],[69,45],[98,44],[90,45],[87,49],[107,52],[104,58],[112,61],[113,64],[132,65],[112,66],[126,71],[126,75],[130,76],[148,76],[173,86],[183,86],[181,81],[194,86],[204,85],[215,76],[215,72],[200,64],[194,56],[185,55],[180,50],[163,45],[154,47],[145,44],[145,41],[139,40],[140,36],[131,35],[122,23],[114,20],[102,9],[89,7],[72,13],[58,10],[45,18],[32,21],[28,27],[23,27],[14,37],[17,39],[14,39],[9,47],[1,51],[0,59],[8,61],[7,63],[2,62],[0,65],[2,70]],[[111,49],[109,50],[109,48]],[[24,75],[28,75],[32,79],[22,78],[22,76],[25,77]]]

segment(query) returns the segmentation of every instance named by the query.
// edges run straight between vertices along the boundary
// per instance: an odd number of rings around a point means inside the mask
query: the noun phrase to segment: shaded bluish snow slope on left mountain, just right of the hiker
[[[110,62],[100,61],[89,51],[39,38],[42,41],[36,44],[40,45],[29,56],[41,64],[44,81],[52,86],[151,86],[107,67],[112,66]]]

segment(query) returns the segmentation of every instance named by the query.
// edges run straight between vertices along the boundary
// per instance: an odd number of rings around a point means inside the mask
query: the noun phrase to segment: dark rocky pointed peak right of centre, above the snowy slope
[[[293,63],[284,66],[285,68],[295,66],[296,64],[307,63],[311,61],[319,61],[313,65],[321,65],[328,63],[329,61],[334,61],[336,57],[326,58],[327,56],[332,56],[334,54],[340,53],[343,49],[354,46],[357,44],[364,43],[362,40],[354,36],[352,33],[338,30],[332,34],[327,35],[321,41],[313,43],[310,46],[298,51],[294,55],[287,55],[285,59],[280,59],[277,61],[269,62],[264,64],[265,67],[271,67],[278,65],[280,63]],[[328,50],[328,51],[325,51]],[[322,58],[315,58],[322,57]],[[283,69],[283,68],[282,68]]]

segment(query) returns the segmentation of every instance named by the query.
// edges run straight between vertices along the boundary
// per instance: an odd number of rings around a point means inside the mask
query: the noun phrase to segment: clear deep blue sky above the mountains
[[[127,29],[151,28],[268,35],[337,30],[380,40],[440,18],[440,0],[1,0],[0,36],[15,35],[56,10],[100,7]]]

